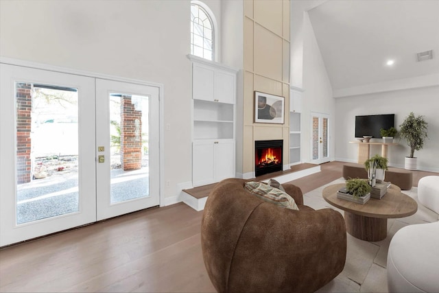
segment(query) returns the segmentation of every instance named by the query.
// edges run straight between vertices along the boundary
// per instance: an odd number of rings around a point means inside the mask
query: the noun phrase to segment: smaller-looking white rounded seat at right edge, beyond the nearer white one
[[[425,176],[419,179],[418,200],[427,209],[439,213],[439,176]]]

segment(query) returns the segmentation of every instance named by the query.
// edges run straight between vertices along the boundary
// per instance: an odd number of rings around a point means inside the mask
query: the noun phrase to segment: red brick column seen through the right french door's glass
[[[121,165],[124,171],[142,167],[142,111],[135,110],[130,95],[121,97]]]

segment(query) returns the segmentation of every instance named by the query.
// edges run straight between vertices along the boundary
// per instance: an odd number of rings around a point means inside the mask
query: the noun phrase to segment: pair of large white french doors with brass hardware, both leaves
[[[0,65],[0,246],[158,204],[158,88]]]

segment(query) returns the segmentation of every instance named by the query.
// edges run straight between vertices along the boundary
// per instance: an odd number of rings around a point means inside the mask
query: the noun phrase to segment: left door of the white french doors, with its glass
[[[0,246],[95,221],[93,78],[0,70]]]

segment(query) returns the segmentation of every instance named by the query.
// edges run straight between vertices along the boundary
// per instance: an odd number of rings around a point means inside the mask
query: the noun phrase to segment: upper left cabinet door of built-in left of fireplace
[[[192,97],[213,101],[213,80],[215,71],[209,67],[193,65],[192,68]]]

